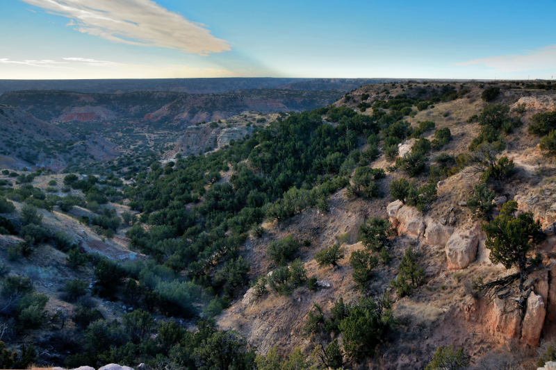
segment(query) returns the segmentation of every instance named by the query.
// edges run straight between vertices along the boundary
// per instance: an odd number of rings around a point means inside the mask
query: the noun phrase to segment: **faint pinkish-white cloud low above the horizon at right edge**
[[[507,56],[493,56],[491,58],[468,60],[456,65],[468,67],[471,65],[484,65],[500,72],[521,72],[543,69],[555,69],[556,45],[543,47],[526,54],[512,54]]]

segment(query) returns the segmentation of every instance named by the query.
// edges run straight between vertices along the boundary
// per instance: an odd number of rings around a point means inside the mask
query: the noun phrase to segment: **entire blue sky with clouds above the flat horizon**
[[[556,1],[1,0],[0,79],[552,79]]]

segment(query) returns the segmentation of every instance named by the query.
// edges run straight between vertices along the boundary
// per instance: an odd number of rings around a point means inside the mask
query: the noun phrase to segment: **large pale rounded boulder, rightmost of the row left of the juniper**
[[[457,230],[452,234],[445,246],[448,269],[465,269],[471,262],[475,261],[479,236],[480,224],[466,230]]]

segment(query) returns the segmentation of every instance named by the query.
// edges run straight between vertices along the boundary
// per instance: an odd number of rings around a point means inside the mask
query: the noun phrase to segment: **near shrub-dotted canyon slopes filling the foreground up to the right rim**
[[[3,340],[68,368],[223,353],[261,370],[423,369],[437,348],[475,369],[555,360],[556,94],[540,87],[364,85],[195,125],[161,157],[131,146],[90,176],[8,171],[3,287],[36,266],[48,299],[35,323],[28,298],[10,303]]]

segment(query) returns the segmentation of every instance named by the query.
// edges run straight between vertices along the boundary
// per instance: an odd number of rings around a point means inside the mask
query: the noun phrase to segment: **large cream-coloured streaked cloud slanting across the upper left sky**
[[[164,47],[206,56],[230,50],[226,40],[152,0],[22,0],[72,19],[81,33],[112,42]]]

